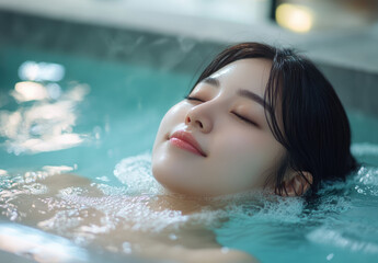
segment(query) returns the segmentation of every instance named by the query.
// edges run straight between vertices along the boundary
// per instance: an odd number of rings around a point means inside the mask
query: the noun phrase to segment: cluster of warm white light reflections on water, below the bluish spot
[[[75,133],[73,127],[76,107],[89,93],[89,87],[77,84],[67,91],[57,89],[57,84],[51,83],[47,87],[31,81],[15,84],[11,95],[18,101],[18,108],[0,111],[0,136],[9,153],[56,151],[85,140],[87,135]],[[58,101],[55,100],[57,94]]]

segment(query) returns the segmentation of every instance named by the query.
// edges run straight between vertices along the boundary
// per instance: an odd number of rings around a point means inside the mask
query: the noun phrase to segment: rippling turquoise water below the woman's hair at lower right
[[[311,262],[328,261],[330,252],[340,262],[371,261],[378,256],[377,190],[378,168],[364,164],[346,182],[324,183],[312,203],[277,197],[234,208],[231,220],[215,229],[217,240],[266,262],[274,254],[295,261],[294,250],[306,251]]]

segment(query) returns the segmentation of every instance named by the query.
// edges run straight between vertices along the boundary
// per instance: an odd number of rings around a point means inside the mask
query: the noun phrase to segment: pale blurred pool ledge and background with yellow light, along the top
[[[370,71],[378,65],[377,0],[0,0],[0,10],[191,41],[264,41]]]

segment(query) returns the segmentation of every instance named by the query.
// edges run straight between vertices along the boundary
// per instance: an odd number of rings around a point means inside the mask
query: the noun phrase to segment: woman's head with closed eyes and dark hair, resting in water
[[[197,151],[180,139],[192,140]],[[308,59],[242,43],[220,53],[165,114],[152,171],[161,184],[185,194],[267,187],[314,195],[323,180],[344,180],[356,168],[350,146],[345,111]]]

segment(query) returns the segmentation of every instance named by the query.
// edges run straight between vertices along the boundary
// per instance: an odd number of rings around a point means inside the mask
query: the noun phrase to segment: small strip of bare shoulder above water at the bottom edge
[[[202,249],[192,251],[187,262],[217,262],[217,263],[259,263],[249,253],[232,249]]]

